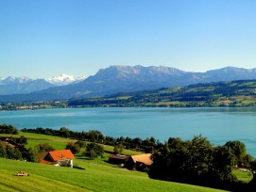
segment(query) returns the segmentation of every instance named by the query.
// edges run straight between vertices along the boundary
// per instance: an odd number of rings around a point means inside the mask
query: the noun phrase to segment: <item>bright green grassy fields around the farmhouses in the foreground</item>
[[[26,147],[47,142],[57,150],[63,150],[70,140],[22,132],[19,136],[28,138]],[[111,147],[108,147],[107,151],[111,152]],[[77,155],[74,165],[85,170],[0,158],[0,191],[221,191],[190,184],[151,180],[144,172],[112,168],[107,162],[108,155],[110,153],[105,152],[105,158],[96,160]],[[26,171],[30,176],[19,177],[18,170]]]

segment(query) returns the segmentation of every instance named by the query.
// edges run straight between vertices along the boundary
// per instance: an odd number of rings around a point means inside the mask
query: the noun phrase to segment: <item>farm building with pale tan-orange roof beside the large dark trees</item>
[[[150,159],[151,155],[151,153],[131,155],[128,159],[127,167],[129,169],[136,168],[137,170],[149,168],[153,163]]]

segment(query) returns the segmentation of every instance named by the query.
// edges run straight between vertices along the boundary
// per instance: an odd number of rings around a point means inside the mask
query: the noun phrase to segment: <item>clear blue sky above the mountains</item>
[[[0,76],[256,64],[254,0],[0,0]]]

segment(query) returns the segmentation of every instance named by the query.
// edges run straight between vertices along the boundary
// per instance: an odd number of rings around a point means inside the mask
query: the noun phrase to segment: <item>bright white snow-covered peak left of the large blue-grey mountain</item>
[[[64,86],[68,84],[79,83],[83,81],[85,78],[86,76],[75,77],[74,75],[60,74],[60,76],[45,79],[45,81],[55,86]]]

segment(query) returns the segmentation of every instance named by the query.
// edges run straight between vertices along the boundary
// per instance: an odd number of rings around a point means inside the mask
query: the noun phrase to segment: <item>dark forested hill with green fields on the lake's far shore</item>
[[[69,106],[251,106],[256,105],[256,80],[160,88],[107,97],[73,99]]]

